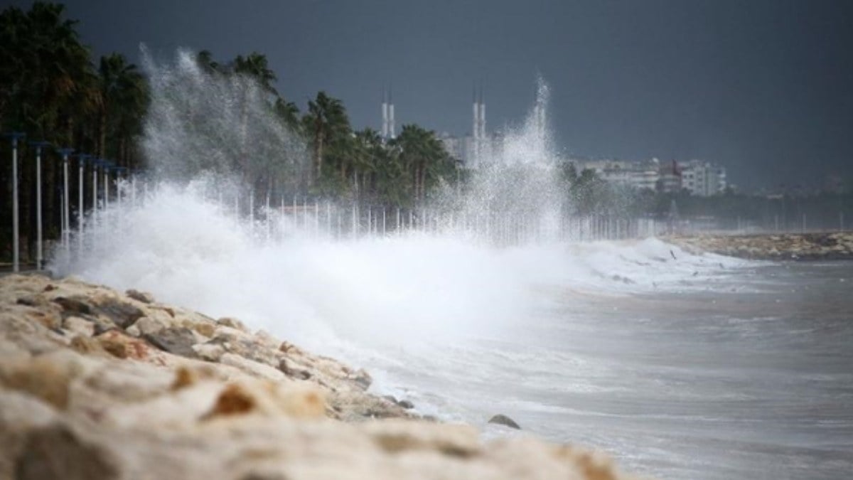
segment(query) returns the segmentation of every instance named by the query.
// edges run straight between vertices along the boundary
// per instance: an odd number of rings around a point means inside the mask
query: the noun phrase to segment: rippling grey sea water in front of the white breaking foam
[[[505,413],[653,477],[850,477],[853,264],[698,271],[652,291],[554,290],[505,335],[384,368],[439,416]]]

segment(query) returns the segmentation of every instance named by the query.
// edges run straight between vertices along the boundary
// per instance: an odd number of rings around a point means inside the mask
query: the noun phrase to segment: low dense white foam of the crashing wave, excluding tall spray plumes
[[[656,239],[507,248],[416,232],[265,240],[198,189],[174,185],[136,206],[111,208],[86,235],[90,248],[56,256],[55,268],[150,290],[213,316],[237,316],[315,348],[495,334],[531,319],[555,292],[683,288],[694,272],[736,263]]]

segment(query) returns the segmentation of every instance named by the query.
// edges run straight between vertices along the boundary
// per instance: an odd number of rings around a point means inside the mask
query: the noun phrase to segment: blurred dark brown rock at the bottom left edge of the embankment
[[[62,424],[32,430],[15,461],[19,480],[112,480],[119,468],[101,446],[84,442]]]

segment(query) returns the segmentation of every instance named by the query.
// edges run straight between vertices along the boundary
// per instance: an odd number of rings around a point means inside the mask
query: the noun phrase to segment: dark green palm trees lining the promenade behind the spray
[[[94,58],[66,18],[61,3],[36,2],[30,9],[0,12],[0,132],[23,132],[19,143],[20,232],[23,255],[35,238],[35,169],[31,141],[108,159],[131,170],[146,167],[141,139],[151,102],[145,73],[119,53]],[[264,91],[270,114],[306,145],[309,165],[296,183],[299,193],[346,198],[388,206],[424,202],[443,184],[461,178],[458,163],[435,132],[405,125],[389,141],[370,128],[351,126],[339,99],[320,91],[304,111],[276,90],[276,73],[258,52],[218,61],[201,51],[196,60],[206,74],[241,76]],[[60,235],[61,160],[55,149],[43,154],[44,237]],[[10,256],[11,143],[0,141],[0,236],[2,255]],[[245,159],[234,159],[236,165]],[[264,172],[243,172],[263,183]],[[255,185],[252,185],[255,186]],[[259,185],[258,185],[259,186]],[[69,190],[76,198],[76,182]],[[85,194],[85,208],[95,199]]]

